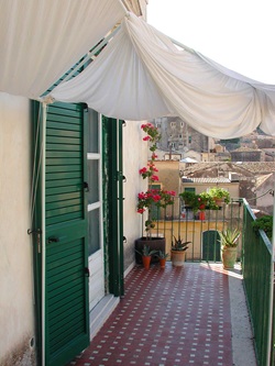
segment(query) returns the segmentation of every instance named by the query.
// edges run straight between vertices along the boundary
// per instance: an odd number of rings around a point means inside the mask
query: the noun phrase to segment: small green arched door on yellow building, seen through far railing
[[[220,235],[216,230],[202,233],[202,260],[220,262]]]

